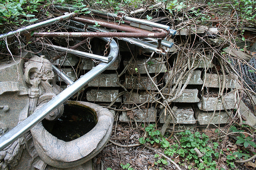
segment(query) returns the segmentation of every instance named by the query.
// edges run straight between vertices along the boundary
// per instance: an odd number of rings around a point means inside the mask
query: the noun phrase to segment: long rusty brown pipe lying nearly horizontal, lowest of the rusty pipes
[[[42,32],[34,34],[35,37],[134,37],[134,38],[165,38],[168,35],[167,31],[163,31],[161,33],[102,33],[102,32]]]

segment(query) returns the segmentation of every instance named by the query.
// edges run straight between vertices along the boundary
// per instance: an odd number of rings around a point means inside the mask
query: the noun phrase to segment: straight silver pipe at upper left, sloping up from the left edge
[[[32,31],[32,30],[35,30],[35,29],[38,29],[38,28],[41,28],[41,27],[44,27],[44,26],[48,26],[54,22],[60,22],[62,20],[66,20],[66,19],[70,19],[74,16],[77,16],[78,13],[68,13],[68,14],[65,14],[65,15],[62,15],[62,16],[59,16],[59,17],[56,17],[56,18],[52,18],[52,19],[48,19],[48,20],[45,20],[45,21],[42,21],[42,22],[39,22],[39,23],[35,23],[31,26],[27,26],[27,27],[24,27],[24,28],[20,28],[16,31],[11,31],[9,33],[5,33],[5,34],[1,34],[0,35],[0,41],[4,40],[4,38],[9,38],[9,37],[12,37],[14,35],[19,35],[19,34],[23,34],[24,32],[29,32],[29,31]]]

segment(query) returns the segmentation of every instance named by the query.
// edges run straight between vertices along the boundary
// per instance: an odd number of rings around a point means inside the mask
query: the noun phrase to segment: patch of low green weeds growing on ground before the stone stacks
[[[199,169],[215,169],[216,168],[216,161],[219,157],[219,153],[215,152],[215,149],[218,148],[219,143],[214,142],[212,147],[209,147],[208,140],[209,137],[204,133],[201,135],[200,132],[195,132],[195,134],[191,133],[190,131],[186,130],[185,132],[180,132],[179,135],[181,137],[180,144],[173,143],[172,145],[160,135],[160,131],[155,130],[155,125],[151,124],[145,128],[145,131],[148,132],[148,138],[143,139],[140,138],[140,143],[144,144],[146,141],[153,143],[159,143],[161,148],[164,148],[164,154],[167,156],[174,156],[180,155],[188,162],[195,162],[196,168]],[[194,150],[197,148],[203,156],[200,158],[196,151]],[[156,154],[155,158],[158,158],[159,155]],[[203,163],[201,162],[203,161]],[[164,159],[158,159],[157,164],[167,163]],[[230,165],[231,162],[230,162]],[[192,168],[192,167],[190,167]]]

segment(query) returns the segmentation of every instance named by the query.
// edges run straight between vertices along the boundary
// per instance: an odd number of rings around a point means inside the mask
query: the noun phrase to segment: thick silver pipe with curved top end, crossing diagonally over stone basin
[[[101,38],[104,41],[108,42],[109,38]],[[29,131],[32,127],[34,127],[37,123],[39,123],[42,119],[44,119],[48,114],[58,108],[62,103],[67,101],[71,96],[77,93],[80,89],[86,86],[90,81],[92,81],[95,77],[100,75],[106,68],[111,66],[114,61],[117,59],[118,55],[118,46],[117,43],[112,40],[110,43],[110,54],[109,56],[113,56],[113,60],[109,63],[100,63],[92,70],[87,72],[86,75],[82,76],[76,82],[71,84],[65,90],[56,95],[51,101],[49,101],[46,105],[42,106],[40,109],[35,111],[32,115],[30,115],[27,119],[25,119],[22,123],[18,124],[16,127],[11,129],[9,132],[0,137],[0,151],[5,149],[9,144],[13,143],[19,137],[24,135],[27,131]]]

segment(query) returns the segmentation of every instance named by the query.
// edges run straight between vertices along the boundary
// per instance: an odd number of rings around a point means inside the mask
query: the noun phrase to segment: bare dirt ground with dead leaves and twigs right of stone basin
[[[228,126],[223,126],[221,129],[226,131]],[[161,127],[158,128],[159,130]],[[227,155],[231,155],[232,152],[239,150],[245,150],[245,148],[236,143],[236,135],[230,135],[225,137],[225,135],[219,135],[216,132],[216,127],[210,127],[206,129],[205,127],[196,127],[196,126],[179,126],[175,128],[175,133],[173,137],[170,138],[169,143],[173,145],[178,143],[179,132],[190,130],[191,132],[198,131],[200,134],[205,133],[209,136],[208,145],[212,145],[213,142],[218,142],[219,146],[216,149],[216,152],[222,150],[223,154],[219,157],[219,167],[217,169],[254,169],[251,164],[248,163],[235,163],[235,167],[230,168],[227,165]],[[246,128],[245,128],[246,130]],[[247,129],[248,130],[248,129]],[[172,129],[168,129],[168,135],[172,134]],[[163,148],[160,148],[160,145],[157,143],[145,143],[139,145],[139,138],[144,136],[144,128],[141,126],[136,129],[135,125],[127,123],[118,123],[113,127],[113,132],[111,136],[111,141],[106,144],[105,148],[93,159],[93,164],[95,170],[101,169],[123,169],[121,164],[125,165],[130,163],[131,169],[143,169],[143,170],[157,170],[157,169],[178,169],[176,165],[166,159],[167,164],[157,163],[157,161],[163,157],[155,157],[155,154],[164,152]],[[166,137],[167,138],[167,137]],[[255,141],[256,138],[253,139]],[[133,145],[136,145],[133,147]],[[247,151],[254,153],[255,150],[253,147],[248,147]],[[196,167],[189,168],[189,165],[193,166],[195,163],[188,162],[185,157],[181,157],[177,154],[174,156],[169,156],[180,169],[198,169]],[[217,160],[216,160],[217,161]]]

